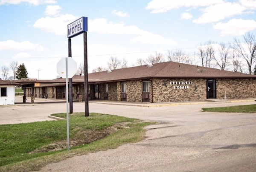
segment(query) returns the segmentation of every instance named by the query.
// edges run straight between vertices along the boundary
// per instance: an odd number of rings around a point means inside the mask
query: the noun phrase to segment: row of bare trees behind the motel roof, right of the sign
[[[209,40],[200,43],[193,52],[186,52],[183,49],[167,51],[165,55],[155,52],[146,58],[138,58],[132,66],[151,65],[166,61],[256,74],[256,35],[248,32],[244,34],[242,40],[235,37],[233,42],[227,43]],[[108,68],[99,66],[93,69],[93,72],[127,68],[128,61],[111,56],[107,66]]]

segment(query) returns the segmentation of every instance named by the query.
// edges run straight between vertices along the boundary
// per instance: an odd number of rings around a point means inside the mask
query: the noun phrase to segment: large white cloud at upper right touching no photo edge
[[[194,23],[213,23],[223,20],[227,17],[232,17],[234,15],[243,14],[246,7],[241,6],[238,3],[221,3],[208,6],[205,9],[202,9],[203,15],[197,20],[193,20]]]

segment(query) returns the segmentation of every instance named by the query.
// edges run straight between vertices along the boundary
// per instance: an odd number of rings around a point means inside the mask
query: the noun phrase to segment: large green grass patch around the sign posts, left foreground
[[[66,118],[65,113],[54,114]],[[137,119],[91,113],[90,117],[77,113],[70,115],[70,142],[82,137],[87,130],[106,130],[117,123],[129,122],[129,128],[118,127],[116,132],[98,141],[55,152],[38,152],[29,154],[52,143],[67,141],[67,121],[43,121],[26,124],[0,125],[0,172],[32,171],[52,162],[58,162],[75,155],[88,152],[114,149],[125,143],[141,141],[145,130],[152,124]]]

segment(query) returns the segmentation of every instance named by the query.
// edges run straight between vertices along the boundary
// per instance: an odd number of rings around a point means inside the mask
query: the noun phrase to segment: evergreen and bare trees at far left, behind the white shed
[[[15,79],[28,78],[28,72],[24,63],[18,65],[18,62],[12,61],[9,66],[3,65],[1,67],[3,79],[7,80],[10,72]]]

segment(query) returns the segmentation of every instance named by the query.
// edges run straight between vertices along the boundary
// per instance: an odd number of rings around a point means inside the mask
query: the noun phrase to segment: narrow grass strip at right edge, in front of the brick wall
[[[202,108],[202,110],[207,112],[256,113],[256,104],[230,107]]]

